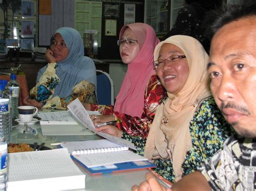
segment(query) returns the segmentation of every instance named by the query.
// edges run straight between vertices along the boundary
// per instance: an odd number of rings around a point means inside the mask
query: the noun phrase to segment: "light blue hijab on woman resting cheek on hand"
[[[53,33],[52,38],[56,33],[59,33],[64,39],[69,49],[69,55],[57,63],[56,74],[60,82],[56,86],[53,96],[58,95],[60,98],[69,96],[72,88],[82,80],[88,80],[96,87],[95,64],[92,59],[84,56],[84,45],[80,33],[70,27],[61,27]],[[39,70],[37,82],[45,69],[44,67]]]

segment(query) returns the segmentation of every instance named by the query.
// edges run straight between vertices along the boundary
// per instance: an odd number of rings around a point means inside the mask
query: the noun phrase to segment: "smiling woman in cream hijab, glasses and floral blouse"
[[[144,155],[175,182],[211,158],[231,132],[211,95],[208,55],[199,41],[167,38],[156,46],[154,60],[168,97],[157,109]]]

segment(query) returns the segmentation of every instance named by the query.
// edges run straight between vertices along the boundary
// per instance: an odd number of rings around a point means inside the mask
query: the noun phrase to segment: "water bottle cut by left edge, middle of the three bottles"
[[[4,83],[0,83],[0,136],[9,143],[11,136],[10,100],[4,92],[4,88]]]

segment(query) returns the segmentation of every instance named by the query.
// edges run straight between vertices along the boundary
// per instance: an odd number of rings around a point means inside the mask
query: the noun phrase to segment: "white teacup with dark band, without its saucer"
[[[33,116],[36,115],[38,109],[33,106],[19,106],[18,112],[19,112],[19,121],[21,122],[31,122],[33,119]]]

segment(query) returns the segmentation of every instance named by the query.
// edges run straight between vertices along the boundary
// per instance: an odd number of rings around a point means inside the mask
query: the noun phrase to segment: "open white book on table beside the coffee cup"
[[[97,111],[99,114],[99,112]],[[69,111],[42,112],[38,116],[44,136],[66,135],[95,135],[92,131],[84,129]]]

